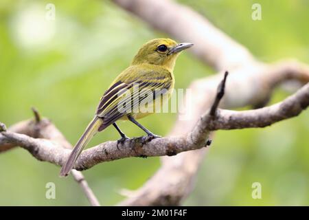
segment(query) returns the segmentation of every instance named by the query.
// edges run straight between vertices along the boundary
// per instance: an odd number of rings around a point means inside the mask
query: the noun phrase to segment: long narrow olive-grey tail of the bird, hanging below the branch
[[[76,159],[78,159],[78,156],[80,155],[80,153],[82,153],[82,149],[90,142],[95,133],[98,132],[98,129],[101,126],[101,124],[102,119],[98,118],[97,116],[95,116],[95,118],[93,118],[93,120],[89,123],[86,131],[84,131],[84,133],[80,137],[80,140],[78,140],[78,142],[74,146],[71,155],[69,155],[69,159],[67,159],[65,165],[62,166],[60,176],[65,177],[70,173],[71,169],[73,168],[76,162]]]

